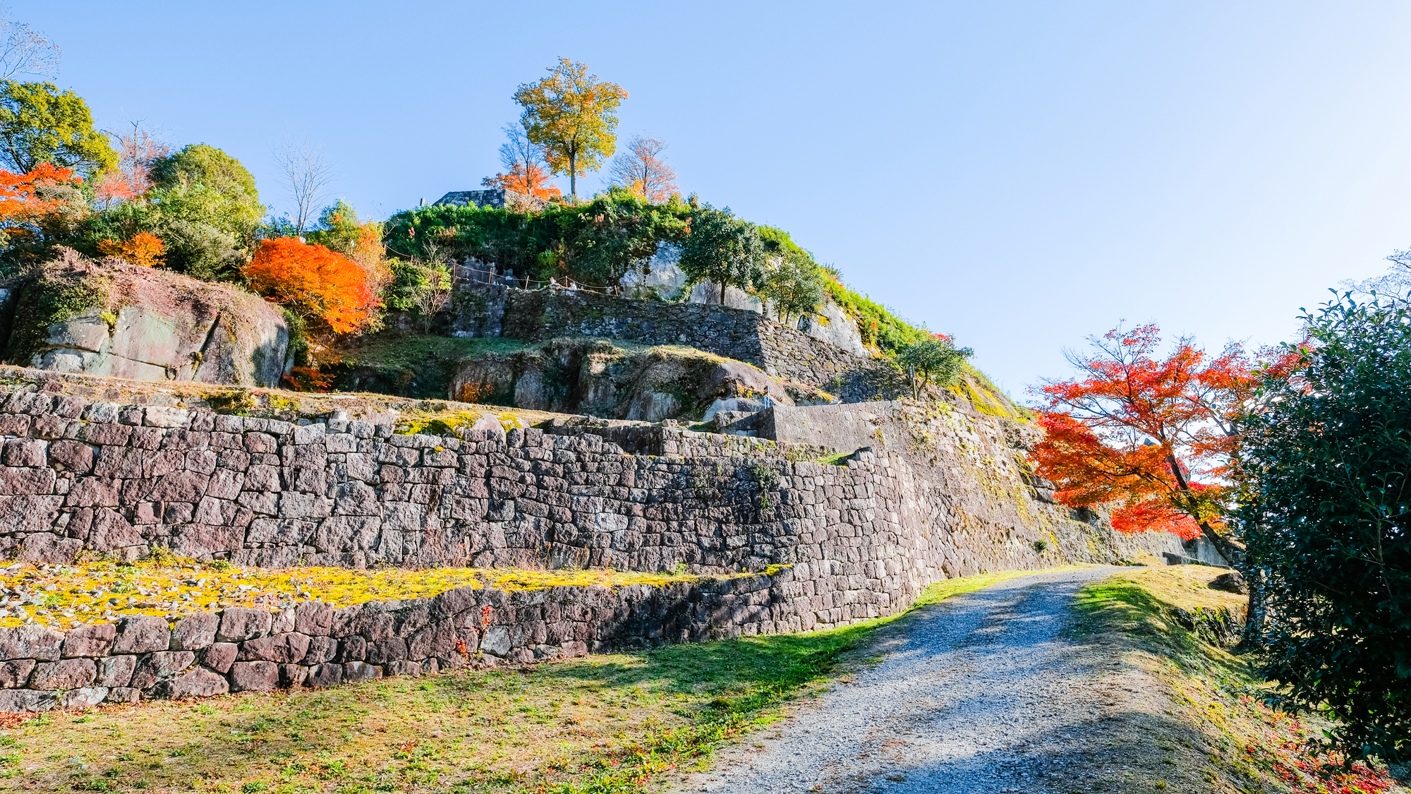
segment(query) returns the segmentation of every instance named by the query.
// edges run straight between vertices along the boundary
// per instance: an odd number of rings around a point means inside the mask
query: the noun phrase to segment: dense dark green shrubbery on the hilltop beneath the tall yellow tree
[[[626,191],[608,191],[574,206],[542,212],[432,205],[398,212],[385,242],[408,260],[453,257],[494,264],[499,273],[547,281],[569,277],[608,287],[643,266],[660,243],[684,237],[690,208],[680,201],[652,205]]]

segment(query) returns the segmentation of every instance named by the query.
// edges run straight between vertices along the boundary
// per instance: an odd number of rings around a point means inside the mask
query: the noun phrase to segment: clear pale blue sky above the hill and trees
[[[1300,307],[1411,246],[1407,3],[13,11],[63,48],[58,82],[102,127],[224,148],[279,211],[271,150],[291,137],[325,147],[333,196],[364,215],[474,189],[515,88],[584,61],[631,93],[621,134],[670,144],[683,191],[789,230],[1020,397],[1119,319],[1285,339]]]

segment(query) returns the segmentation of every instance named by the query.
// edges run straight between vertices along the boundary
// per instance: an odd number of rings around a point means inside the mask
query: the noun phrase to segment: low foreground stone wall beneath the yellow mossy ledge
[[[0,629],[0,712],[332,687],[466,664],[799,632],[816,608],[859,616],[885,608],[825,606],[837,599],[810,591],[785,568],[665,588],[464,586],[435,598],[346,608],[299,602],[278,610],[137,615],[68,633],[17,626]],[[803,603],[807,610],[799,609]]]

